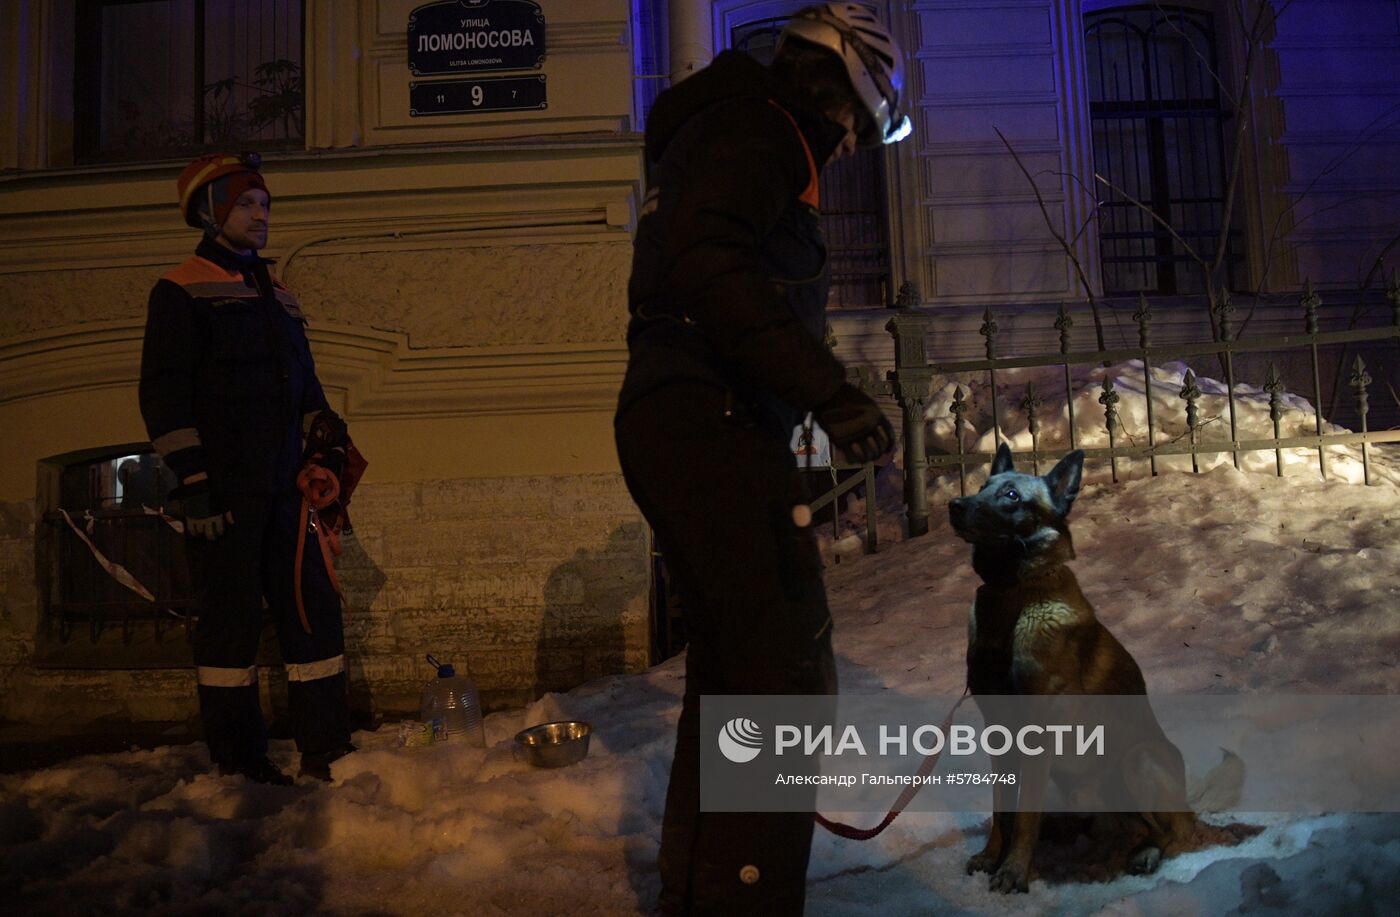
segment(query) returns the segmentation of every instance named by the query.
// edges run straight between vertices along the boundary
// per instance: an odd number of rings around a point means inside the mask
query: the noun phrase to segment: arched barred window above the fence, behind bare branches
[[[1102,200],[1103,288],[1200,293],[1225,209],[1225,141],[1214,17],[1131,6],[1085,15],[1093,168]],[[1170,228],[1168,228],[1170,227]],[[1238,232],[1224,276],[1233,288]],[[1183,245],[1184,242],[1184,245]]]

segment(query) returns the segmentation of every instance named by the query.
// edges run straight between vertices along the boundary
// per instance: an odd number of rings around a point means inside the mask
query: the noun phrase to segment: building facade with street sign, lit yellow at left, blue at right
[[[0,10],[0,718],[195,710],[136,378],[146,295],[196,241],[175,176],[218,146],[263,151],[266,253],[371,463],[340,561],[361,707],[413,708],[424,652],[491,706],[654,661],[610,426],[640,130],[668,80],[770,52],[802,4],[449,0],[455,28],[417,0],[140,6],[168,8]],[[1088,288],[1121,337],[1145,291],[1198,337],[1201,262],[1267,298],[1375,290],[1397,256],[1396,0],[879,6],[914,134],[823,186],[851,364],[889,365],[906,283],[958,357],[988,307],[1015,347]]]

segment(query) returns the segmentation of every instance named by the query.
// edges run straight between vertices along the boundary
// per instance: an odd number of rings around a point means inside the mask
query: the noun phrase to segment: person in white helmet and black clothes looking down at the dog
[[[686,690],[662,822],[666,914],[799,914],[812,812],[700,812],[701,694],[834,694],[832,619],[788,448],[806,412],[844,455],[893,444],[823,343],[819,168],[909,133],[899,48],[861,4],[799,11],[664,92],[629,288],[617,454],[680,592]],[[815,801],[815,791],[813,791]]]

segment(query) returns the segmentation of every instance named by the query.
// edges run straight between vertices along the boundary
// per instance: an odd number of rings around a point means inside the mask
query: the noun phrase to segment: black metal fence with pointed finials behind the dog
[[[931,361],[925,351],[925,336],[928,332],[928,325],[932,321],[930,312],[916,308],[913,304],[918,302],[918,295],[911,288],[900,290],[899,297],[899,311],[886,325],[886,330],[895,339],[895,368],[888,374],[888,382],[876,382],[872,379],[865,379],[865,388],[868,391],[885,395],[893,395],[899,402],[903,412],[903,441],[904,441],[904,504],[909,512],[909,533],[910,536],[924,535],[928,532],[928,469],[930,468],[946,468],[956,466],[959,476],[959,487],[963,494],[967,493],[967,466],[969,465],[990,465],[994,452],[966,452],[963,449],[963,430],[966,428],[966,420],[963,414],[967,410],[967,403],[963,400],[963,392],[959,388],[953,396],[949,413],[953,417],[953,440],[958,444],[956,454],[949,455],[927,455],[925,451],[925,406],[930,398],[930,389],[935,377],[946,377],[958,372],[986,372],[988,379],[988,388],[991,393],[991,417],[993,417],[993,437],[1000,445],[1004,435],[1001,430],[1001,414],[998,406],[998,392],[997,392],[997,372],[1002,370],[1025,368],[1025,367],[1063,367],[1064,368],[1064,386],[1065,386],[1065,400],[1070,410],[1070,447],[1068,449],[1060,451],[1042,451],[1040,449],[1040,419],[1037,412],[1042,406],[1042,399],[1035,391],[1033,384],[1026,384],[1025,396],[1019,402],[1021,410],[1025,413],[1032,449],[1030,454],[1021,454],[1022,458],[1029,458],[1030,465],[1036,473],[1040,473],[1042,463],[1049,463],[1053,459],[1058,459],[1065,455],[1070,449],[1079,448],[1078,433],[1075,430],[1074,421],[1074,389],[1071,382],[1071,367],[1074,365],[1112,365],[1114,363],[1123,363],[1127,360],[1141,360],[1144,365],[1144,379],[1148,382],[1147,388],[1147,444],[1145,445],[1120,445],[1117,441],[1119,433],[1121,431],[1121,424],[1117,414],[1119,393],[1113,391],[1113,379],[1105,378],[1102,384],[1102,393],[1099,395],[1099,403],[1105,407],[1105,427],[1109,438],[1109,448],[1086,448],[1085,456],[1091,459],[1107,459],[1113,470],[1113,480],[1117,482],[1117,462],[1120,458],[1147,458],[1151,463],[1152,473],[1156,475],[1156,459],[1165,455],[1183,455],[1190,454],[1193,470],[1200,470],[1197,465],[1198,455],[1215,455],[1219,452],[1231,452],[1235,468],[1239,468],[1239,456],[1242,452],[1263,452],[1273,451],[1275,454],[1275,465],[1278,475],[1284,473],[1284,458],[1282,449],[1285,448],[1308,448],[1313,447],[1317,449],[1317,466],[1323,477],[1327,476],[1327,447],[1337,445],[1359,445],[1361,459],[1364,469],[1365,483],[1371,483],[1371,463],[1366,445],[1371,442],[1400,442],[1400,430],[1386,430],[1386,431],[1368,431],[1366,430],[1366,413],[1368,413],[1368,386],[1372,379],[1366,372],[1366,365],[1358,354],[1351,365],[1350,386],[1355,395],[1357,414],[1361,417],[1361,431],[1359,433],[1323,433],[1323,416],[1322,416],[1322,372],[1320,363],[1317,357],[1319,347],[1327,344],[1354,344],[1361,342],[1386,342],[1394,340],[1400,343],[1400,286],[1394,280],[1386,291],[1386,298],[1390,302],[1390,326],[1389,328],[1368,328],[1368,329],[1351,329],[1338,332],[1319,332],[1317,330],[1317,308],[1322,305],[1322,298],[1317,297],[1312,287],[1309,286],[1299,300],[1299,307],[1303,311],[1303,328],[1305,332],[1301,335],[1278,335],[1271,337],[1257,337],[1250,340],[1235,340],[1233,326],[1232,326],[1232,312],[1233,305],[1229,297],[1225,295],[1217,304],[1214,309],[1215,325],[1219,330],[1219,340],[1217,342],[1201,342],[1201,343],[1182,343],[1182,344],[1168,344],[1168,346],[1154,346],[1151,337],[1151,309],[1145,298],[1141,300],[1138,311],[1134,314],[1133,319],[1137,322],[1138,328],[1138,346],[1116,350],[1071,350],[1070,349],[1070,329],[1074,325],[1074,319],[1065,309],[1064,304],[1060,305],[1060,312],[1054,321],[1054,329],[1060,333],[1060,349],[1057,353],[1042,353],[1042,354],[1028,354],[1018,357],[998,357],[997,356],[997,321],[988,308],[983,314],[983,325],[980,329],[983,342],[986,344],[987,357],[984,360],[963,360],[955,363],[938,363]],[[1280,420],[1284,413],[1282,395],[1284,384],[1278,377],[1278,371],[1274,364],[1270,363],[1268,374],[1264,381],[1263,391],[1268,393],[1270,402],[1270,419],[1274,424],[1274,435],[1267,440],[1240,440],[1239,426],[1236,420],[1236,392],[1235,392],[1235,356],[1240,353],[1278,353],[1288,350],[1303,350],[1310,356],[1312,364],[1312,388],[1313,388],[1313,413],[1316,421],[1315,435],[1295,435],[1295,437],[1281,437],[1280,435]],[[1183,437],[1186,441],[1158,441],[1156,428],[1154,426],[1152,417],[1152,386],[1149,384],[1151,370],[1154,360],[1159,358],[1184,358],[1197,356],[1217,356],[1219,358],[1221,367],[1225,374],[1225,388],[1226,399],[1229,403],[1229,440],[1228,441],[1211,441],[1201,442],[1201,419],[1200,410],[1197,407],[1197,400],[1201,398],[1201,392],[1196,385],[1196,377],[1193,372],[1187,371],[1184,378],[1184,385],[1182,386],[1179,396],[1186,402],[1186,423],[1189,427],[1189,437]],[[871,491],[872,493],[872,491]]]

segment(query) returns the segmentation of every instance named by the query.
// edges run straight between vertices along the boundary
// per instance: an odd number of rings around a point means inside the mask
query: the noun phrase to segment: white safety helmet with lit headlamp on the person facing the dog
[[[806,7],[783,28],[780,49],[788,36],[840,56],[855,94],[875,122],[879,143],[897,143],[909,136],[911,125],[902,108],[904,59],[889,28],[875,15],[875,7],[864,3]]]

